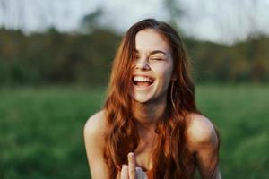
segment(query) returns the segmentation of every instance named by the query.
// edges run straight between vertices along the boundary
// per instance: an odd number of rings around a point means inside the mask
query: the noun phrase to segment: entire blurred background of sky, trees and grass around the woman
[[[223,178],[269,178],[269,1],[0,0],[0,178],[89,178],[82,130],[135,21],[182,36]]]

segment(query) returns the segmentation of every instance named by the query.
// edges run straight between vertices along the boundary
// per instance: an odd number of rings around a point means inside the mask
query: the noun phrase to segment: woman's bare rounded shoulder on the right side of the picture
[[[204,115],[189,115],[187,143],[194,150],[203,146],[215,146],[218,143],[217,132],[212,122]]]

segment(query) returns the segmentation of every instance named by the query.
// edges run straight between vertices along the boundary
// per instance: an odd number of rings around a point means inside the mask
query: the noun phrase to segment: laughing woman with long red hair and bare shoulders
[[[84,127],[93,179],[221,178],[220,139],[195,106],[187,53],[167,23],[135,23],[112,67],[104,109]]]

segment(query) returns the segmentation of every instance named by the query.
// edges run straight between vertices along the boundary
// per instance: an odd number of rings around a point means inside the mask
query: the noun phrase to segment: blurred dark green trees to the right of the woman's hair
[[[195,81],[262,83],[269,80],[269,38],[249,38],[232,46],[185,39]]]

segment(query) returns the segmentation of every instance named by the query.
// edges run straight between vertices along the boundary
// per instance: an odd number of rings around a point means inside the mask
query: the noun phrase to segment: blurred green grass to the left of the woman
[[[89,178],[82,129],[103,91],[0,90],[0,178]]]

